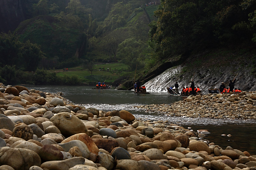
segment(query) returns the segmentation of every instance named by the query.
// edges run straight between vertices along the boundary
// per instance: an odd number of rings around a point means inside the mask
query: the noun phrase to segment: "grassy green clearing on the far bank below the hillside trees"
[[[101,68],[101,71],[99,71]],[[103,69],[104,68],[104,69]],[[109,68],[109,71],[107,71]],[[88,84],[96,84],[98,81],[105,84],[112,84],[118,77],[128,73],[128,66],[125,64],[95,64],[93,67],[92,75],[88,69],[83,67],[68,68],[67,72],[63,72],[63,69],[55,70],[58,76],[78,76],[82,79],[82,82]],[[130,73],[130,72],[129,72]]]

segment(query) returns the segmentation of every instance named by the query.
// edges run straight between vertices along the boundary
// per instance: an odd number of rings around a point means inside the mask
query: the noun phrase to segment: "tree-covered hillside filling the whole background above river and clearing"
[[[3,0],[0,6],[2,82],[35,83],[23,71],[113,62],[145,76],[207,49],[253,49],[256,42],[250,0]]]

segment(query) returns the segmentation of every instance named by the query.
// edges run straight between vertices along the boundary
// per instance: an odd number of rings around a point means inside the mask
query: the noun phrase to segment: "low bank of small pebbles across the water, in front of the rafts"
[[[135,106],[145,112],[190,118],[256,119],[256,91],[189,96],[168,104]]]

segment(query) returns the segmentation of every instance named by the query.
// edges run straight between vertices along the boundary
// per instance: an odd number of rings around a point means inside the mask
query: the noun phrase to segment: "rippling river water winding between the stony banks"
[[[214,142],[223,149],[231,146],[233,149],[248,151],[251,155],[256,155],[256,121],[255,120],[229,120],[210,118],[186,118],[170,117],[164,113],[149,113],[137,109],[134,106],[148,104],[170,104],[183,100],[181,96],[170,96],[167,92],[150,92],[149,94],[134,94],[133,91],[125,90],[100,90],[92,89],[92,86],[31,86],[24,85],[28,89],[36,89],[49,93],[62,92],[63,97],[74,104],[94,107],[99,110],[127,110],[136,119],[141,120],[163,120],[169,123],[178,124],[191,130],[206,129],[210,133],[203,139]],[[231,134],[231,137],[222,136]]]

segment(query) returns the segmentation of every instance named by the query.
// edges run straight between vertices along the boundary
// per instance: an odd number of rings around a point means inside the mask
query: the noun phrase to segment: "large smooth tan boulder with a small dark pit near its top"
[[[64,136],[72,136],[77,133],[86,133],[89,135],[83,122],[75,115],[62,112],[54,115],[50,121],[61,131]]]

